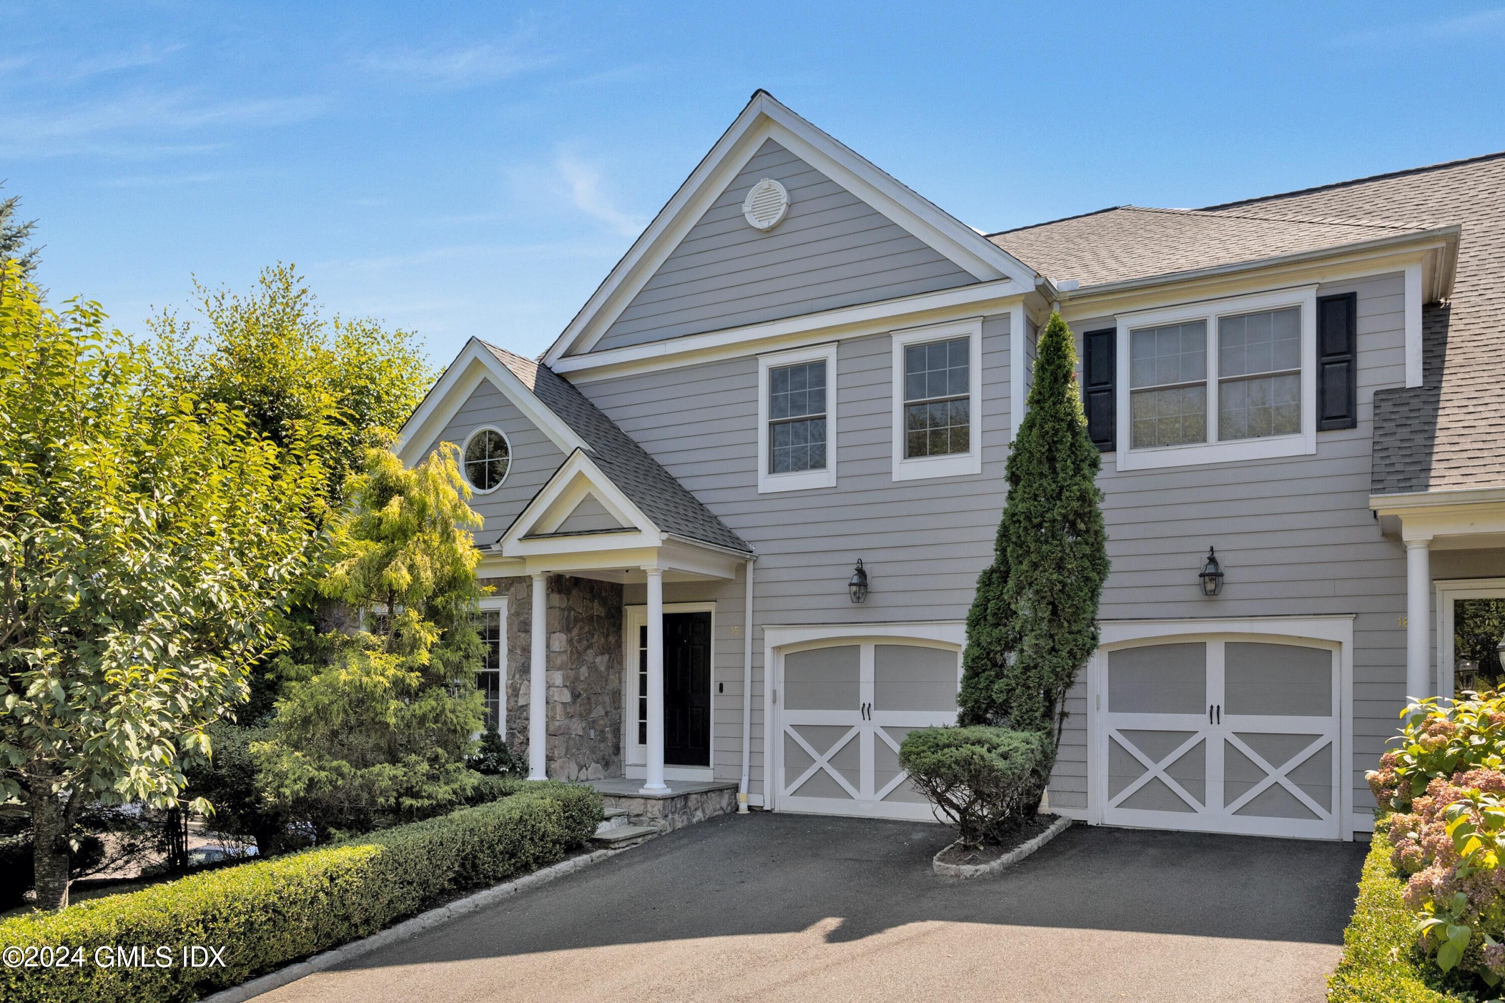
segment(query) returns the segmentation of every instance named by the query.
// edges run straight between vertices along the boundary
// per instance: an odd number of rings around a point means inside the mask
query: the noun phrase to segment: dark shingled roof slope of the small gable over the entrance
[[[483,341],[483,344],[486,344]],[[486,344],[543,405],[558,415],[590,447],[590,459],[664,532],[719,547],[751,553],[752,547],[731,532],[698,498],[665,471],[658,460],[619,429],[596,405],[554,370],[506,349]]]

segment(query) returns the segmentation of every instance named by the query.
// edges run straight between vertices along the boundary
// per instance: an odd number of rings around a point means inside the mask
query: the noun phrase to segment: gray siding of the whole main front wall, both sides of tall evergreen
[[[1368,511],[1373,397],[1404,382],[1400,275],[1324,286],[1359,293],[1359,426],[1318,433],[1317,454],[1120,472],[1105,454],[1100,484],[1114,573],[1105,620],[1353,614],[1354,761],[1359,811],[1373,805],[1362,773],[1394,731],[1403,698],[1403,547]],[[1102,322],[1073,323],[1078,331]],[[1029,341],[1029,338],[1026,338]],[[582,383],[712,511],[757,547],[752,762],[762,791],[763,642],[760,627],[792,623],[962,620],[992,553],[1004,493],[1008,427],[1007,319],[984,326],[983,474],[891,480],[889,340],[843,341],[837,386],[837,486],[757,495],[757,368],[751,358]],[[683,430],[692,427],[695,435]],[[1216,546],[1228,585],[1202,598],[1196,571]],[[853,606],[844,582],[862,558],[871,592]],[[1439,561],[1448,567],[1451,558]],[[1472,565],[1470,565],[1472,567]],[[1443,577],[1439,571],[1437,577]],[[674,585],[671,601],[715,598],[718,776],[740,756],[740,582]],[[629,589],[628,601],[643,601]],[[1079,686],[1052,780],[1052,801],[1087,805],[1087,704]]]

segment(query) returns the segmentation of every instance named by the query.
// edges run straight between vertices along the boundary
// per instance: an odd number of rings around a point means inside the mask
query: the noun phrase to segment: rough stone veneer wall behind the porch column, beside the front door
[[[527,762],[533,582],[482,585],[507,597],[507,744]],[[622,776],[622,585],[549,574],[546,586],[549,779]]]

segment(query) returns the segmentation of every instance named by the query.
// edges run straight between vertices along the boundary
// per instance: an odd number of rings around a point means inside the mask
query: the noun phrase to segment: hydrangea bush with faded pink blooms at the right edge
[[[1505,698],[1418,701],[1400,749],[1367,774],[1388,820],[1391,863],[1418,946],[1448,973],[1505,982]]]

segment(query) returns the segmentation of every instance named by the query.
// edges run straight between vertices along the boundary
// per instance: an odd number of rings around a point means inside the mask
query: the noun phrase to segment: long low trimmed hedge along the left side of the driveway
[[[600,794],[513,782],[509,797],[450,815],[129,895],[0,922],[0,947],[84,949],[83,964],[0,968],[8,1003],[196,1000],[375,934],[439,898],[554,863],[596,832]],[[95,952],[167,946],[172,967],[99,967]],[[182,967],[184,946],[226,947],[224,967]]]

